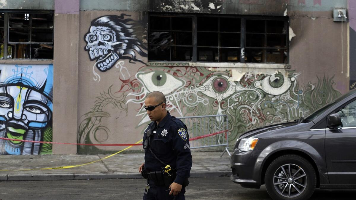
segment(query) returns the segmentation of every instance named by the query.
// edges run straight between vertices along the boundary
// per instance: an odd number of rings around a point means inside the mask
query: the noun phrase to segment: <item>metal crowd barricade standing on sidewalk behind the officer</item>
[[[177,117],[182,120],[188,128],[190,148],[207,148],[225,146],[225,152],[231,156],[227,130],[227,115],[204,115]],[[221,157],[220,156],[220,157]]]

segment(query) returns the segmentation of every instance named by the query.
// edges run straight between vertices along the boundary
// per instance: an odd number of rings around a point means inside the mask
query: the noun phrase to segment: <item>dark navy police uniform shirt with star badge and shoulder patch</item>
[[[167,111],[167,116],[159,122],[150,123],[146,131],[151,129],[151,150],[165,164],[171,165],[172,169],[177,169],[175,183],[183,184],[185,178],[190,176],[192,168],[192,154],[190,153],[189,136],[187,126]],[[143,141],[147,138],[146,131],[143,134]],[[150,152],[150,148],[145,149],[145,169],[148,172],[160,171],[166,167],[159,162]]]

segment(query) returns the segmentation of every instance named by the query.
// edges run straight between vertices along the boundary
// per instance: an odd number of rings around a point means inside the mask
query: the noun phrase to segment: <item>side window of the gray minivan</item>
[[[340,115],[342,127],[356,127],[356,100],[336,113]]]

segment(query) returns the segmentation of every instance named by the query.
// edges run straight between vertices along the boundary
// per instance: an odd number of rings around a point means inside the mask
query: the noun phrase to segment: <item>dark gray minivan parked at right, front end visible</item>
[[[272,199],[309,199],[315,188],[356,189],[356,90],[307,118],[243,133],[231,180],[266,185]]]

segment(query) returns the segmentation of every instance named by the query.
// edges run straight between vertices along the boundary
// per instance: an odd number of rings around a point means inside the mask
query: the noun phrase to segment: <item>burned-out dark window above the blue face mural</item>
[[[0,30],[1,59],[53,59],[53,12],[1,13]]]

